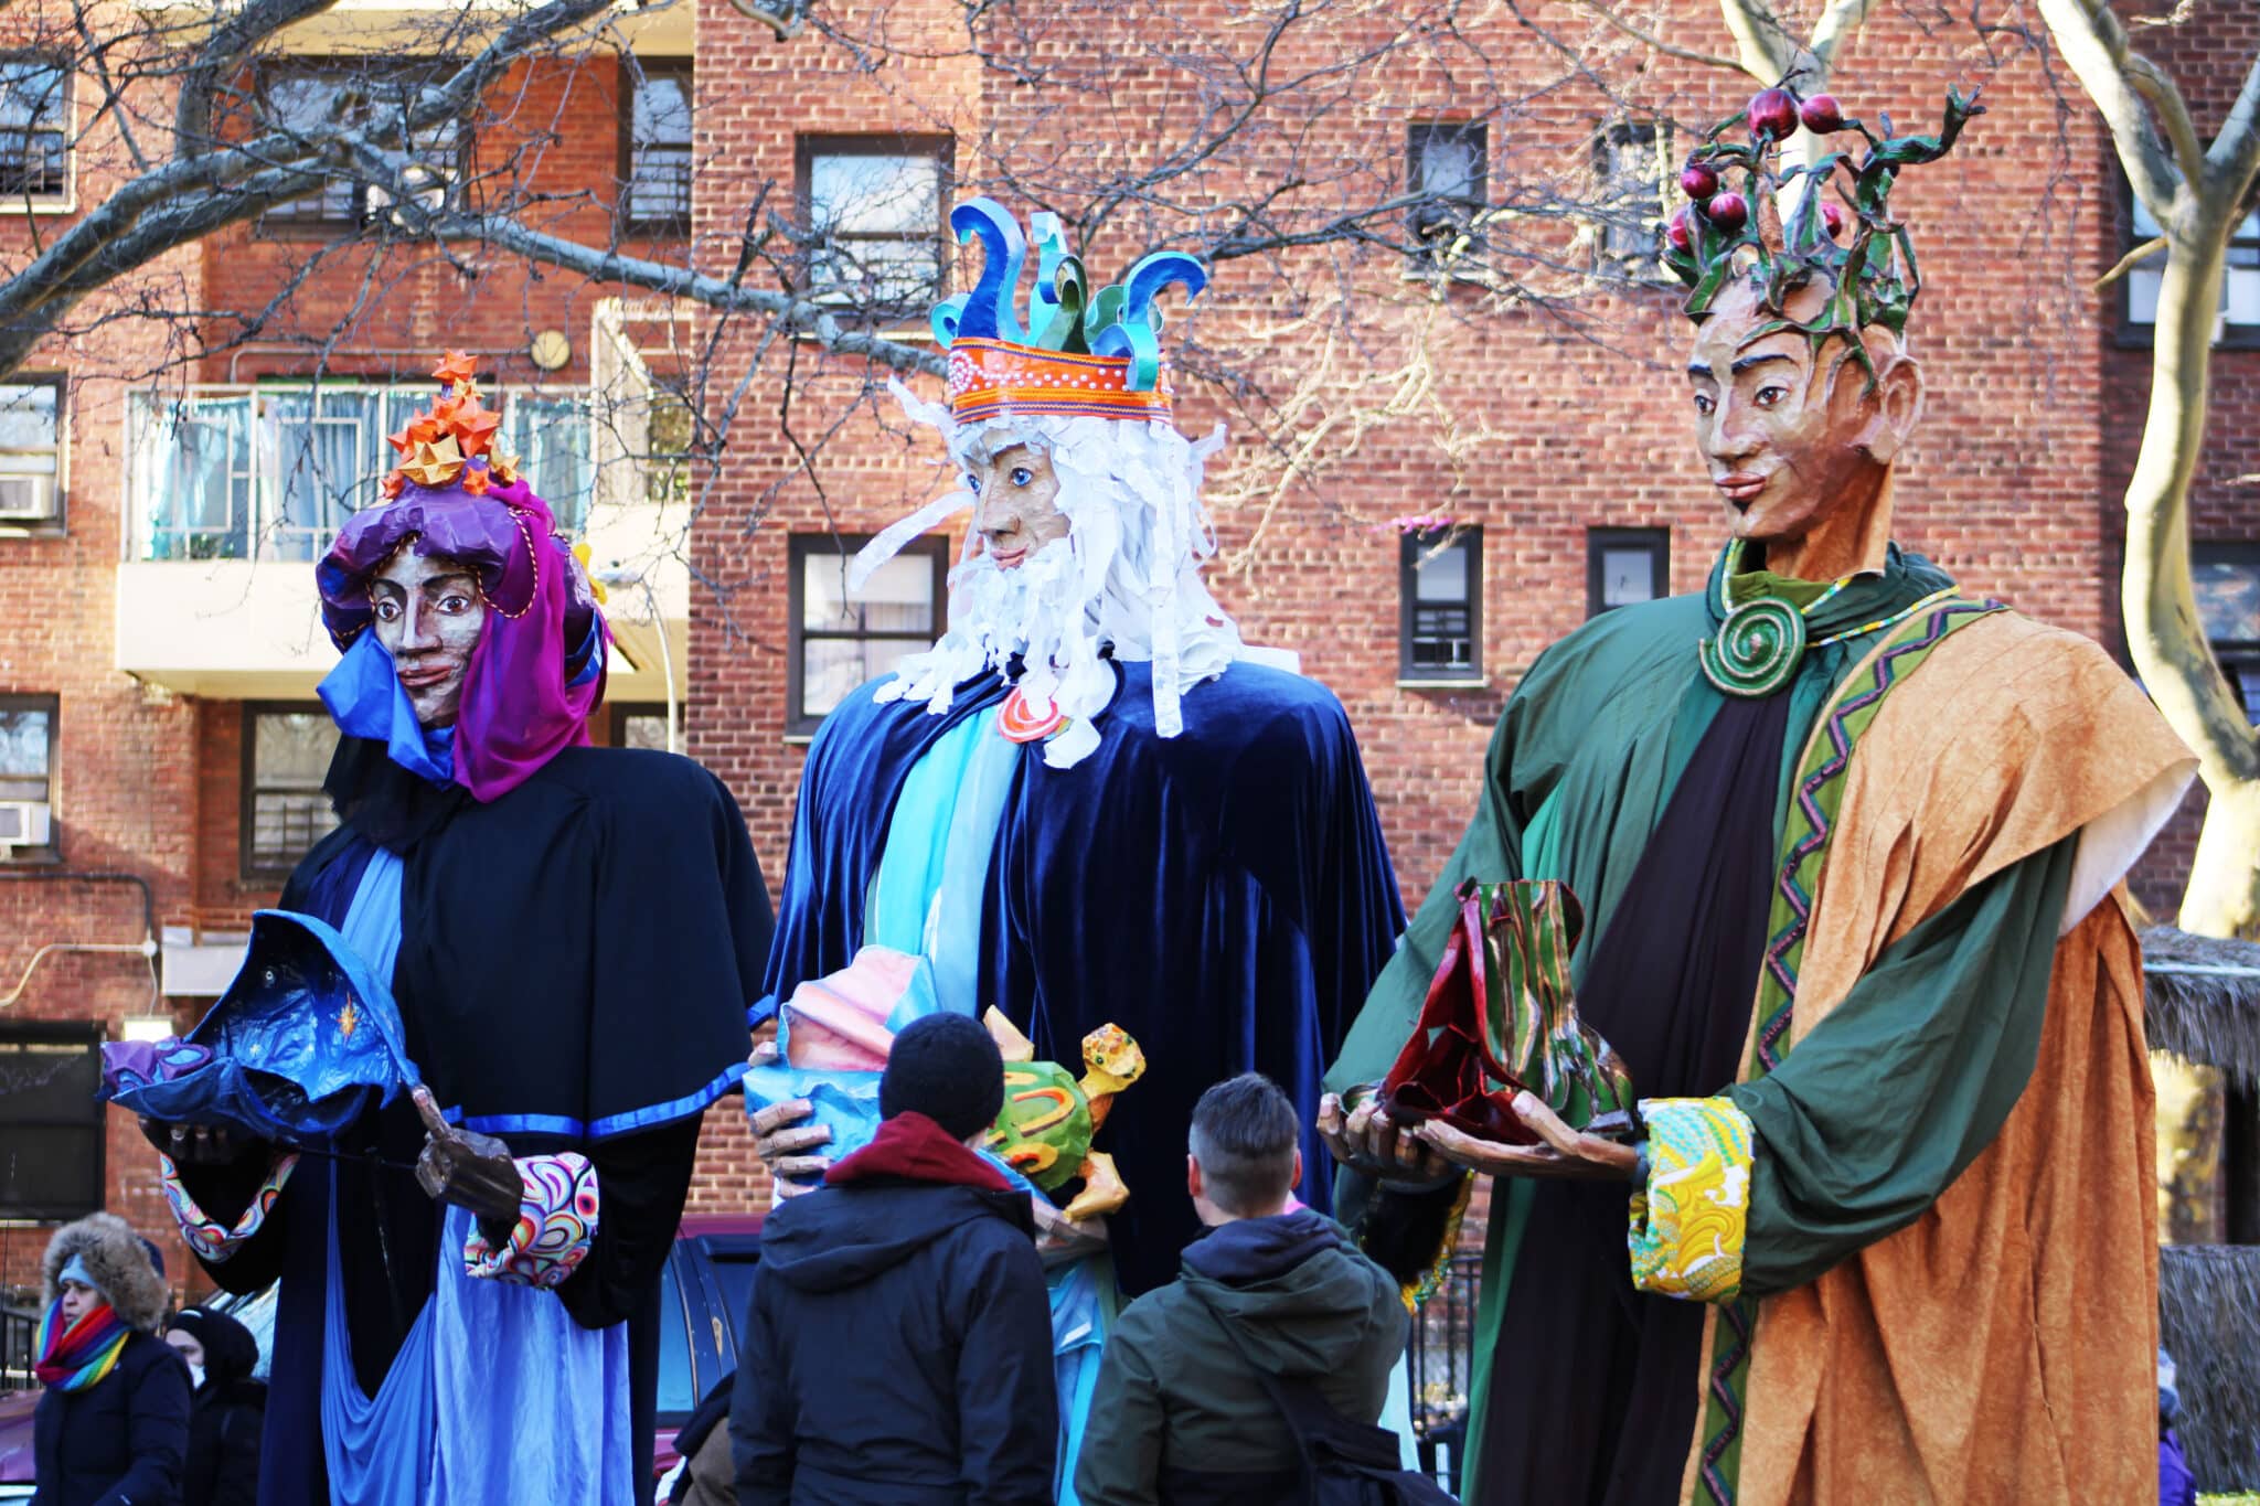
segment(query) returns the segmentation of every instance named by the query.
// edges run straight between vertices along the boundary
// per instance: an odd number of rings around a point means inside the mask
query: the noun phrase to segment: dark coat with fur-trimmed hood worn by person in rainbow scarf
[[[66,1224],[47,1244],[45,1301],[72,1255],[133,1330],[108,1375],[47,1389],[32,1413],[34,1506],[176,1506],[188,1452],[188,1366],[156,1334],[165,1280],[149,1246],[111,1212]]]

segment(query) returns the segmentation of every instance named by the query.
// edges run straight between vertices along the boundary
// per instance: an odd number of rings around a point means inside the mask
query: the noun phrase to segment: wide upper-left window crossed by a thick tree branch
[[[353,131],[411,108],[425,88],[441,81],[443,68],[447,65],[434,61],[273,68],[260,86],[260,124],[305,140]],[[260,224],[282,233],[298,228],[341,235],[386,217],[391,183],[405,185],[425,210],[445,208],[450,190],[463,176],[463,138],[459,120],[423,126],[405,147],[382,151],[384,185],[337,176],[316,194],[267,210]]]

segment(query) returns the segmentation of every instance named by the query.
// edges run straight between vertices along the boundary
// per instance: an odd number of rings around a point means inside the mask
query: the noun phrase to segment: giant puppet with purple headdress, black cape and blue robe
[[[603,614],[468,357],[434,375],[316,567],[341,824],[111,1088],[212,1278],[280,1280],[262,1501],[612,1506],[651,1481],[660,1267],[771,910],[719,779],[590,747]]]

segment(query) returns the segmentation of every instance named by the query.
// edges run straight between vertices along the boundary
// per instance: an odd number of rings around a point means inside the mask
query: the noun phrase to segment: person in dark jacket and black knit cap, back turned
[[[913,1021],[879,1133],[768,1217],[730,1404],[739,1506],[1051,1506],[1035,1222],[970,1149],[1001,1104],[981,1025]]]

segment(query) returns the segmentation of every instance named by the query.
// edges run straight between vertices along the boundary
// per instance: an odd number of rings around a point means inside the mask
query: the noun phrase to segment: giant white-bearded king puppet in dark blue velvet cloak
[[[1198,1231],[1193,1100],[1261,1070],[1313,1122],[1403,910],[1342,704],[1293,655],[1243,646],[1200,578],[1200,472],[1223,436],[1171,422],[1153,300],[1198,294],[1205,271],[1150,255],[1085,307],[1046,219],[1028,330],[1019,226],[985,199],[951,214],[985,266],[936,309],[947,400],[897,397],[965,485],[850,571],[972,508],[949,630],[852,691],[809,750],[764,1005],[884,948],[915,957],[938,1007],[997,1007],[1040,1057],[1080,1061],[1089,1030],[1128,1030],[1148,1072],[1098,1149],[1130,1188],[1107,1226],[1135,1296]],[[757,1129],[782,1174],[841,1149],[780,1131],[800,1109],[777,1109]],[[1327,1210],[1315,1138],[1304,1165],[1299,1197]]]

